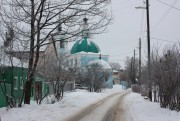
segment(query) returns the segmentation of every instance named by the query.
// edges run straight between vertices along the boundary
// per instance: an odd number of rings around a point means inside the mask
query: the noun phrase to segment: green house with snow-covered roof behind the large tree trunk
[[[22,98],[27,79],[27,63],[3,51],[0,54],[0,107],[5,107],[8,105],[5,93],[10,97],[14,97],[16,102],[19,102]],[[34,100],[37,94],[38,98],[46,94],[48,88],[41,75],[36,74],[33,85],[31,99]],[[36,90],[37,87],[42,90]]]

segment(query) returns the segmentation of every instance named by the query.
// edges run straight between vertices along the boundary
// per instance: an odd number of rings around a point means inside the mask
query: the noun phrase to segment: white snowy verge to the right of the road
[[[159,103],[145,100],[140,94],[125,97],[133,121],[180,121],[180,112],[160,108]]]

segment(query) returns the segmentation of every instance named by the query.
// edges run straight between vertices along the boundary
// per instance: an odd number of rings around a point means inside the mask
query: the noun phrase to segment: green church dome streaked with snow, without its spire
[[[92,53],[99,53],[99,47],[88,38],[83,38],[82,40],[78,40],[71,49],[71,54],[75,54],[78,52],[92,52]]]

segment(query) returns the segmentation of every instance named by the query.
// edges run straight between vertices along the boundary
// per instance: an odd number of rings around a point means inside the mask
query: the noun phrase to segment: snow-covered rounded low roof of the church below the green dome
[[[99,64],[102,66],[103,69],[112,69],[109,63],[102,59],[92,60],[88,63],[88,65],[92,65],[92,64]]]

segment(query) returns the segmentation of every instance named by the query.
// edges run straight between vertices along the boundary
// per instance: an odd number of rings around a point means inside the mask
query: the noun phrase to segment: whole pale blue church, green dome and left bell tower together
[[[60,26],[58,31],[53,34],[53,39],[50,39],[52,43],[46,47],[45,55],[65,58],[62,60],[67,62],[66,65],[68,65],[68,67],[78,67],[82,71],[84,71],[84,69],[91,64],[98,64],[108,72],[108,77],[106,77],[104,80],[105,87],[112,88],[113,76],[112,68],[108,63],[109,55],[101,53],[99,46],[92,41],[88,28],[88,19],[84,18],[81,36],[75,41],[72,48],[68,49],[68,42],[64,40],[66,35],[63,33]],[[47,56],[47,58],[51,60],[52,57]],[[65,90],[73,90],[72,87],[75,86],[75,83],[76,82],[73,82],[73,80],[68,81],[66,83]]]

